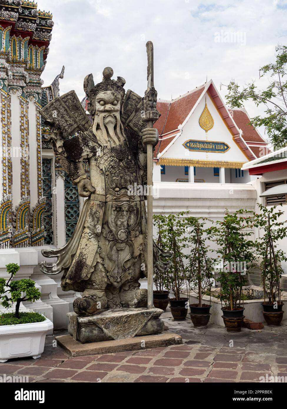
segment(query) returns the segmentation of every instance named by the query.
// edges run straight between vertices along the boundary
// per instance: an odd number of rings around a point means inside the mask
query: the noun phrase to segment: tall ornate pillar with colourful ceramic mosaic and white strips
[[[0,249],[44,244],[40,77],[53,24],[34,1],[0,4]]]

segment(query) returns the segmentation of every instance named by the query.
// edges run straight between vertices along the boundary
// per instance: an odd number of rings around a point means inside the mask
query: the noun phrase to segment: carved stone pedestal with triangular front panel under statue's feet
[[[68,331],[75,341],[83,344],[158,334],[165,328],[159,318],[162,313],[158,308],[117,308],[90,317],[68,312]]]

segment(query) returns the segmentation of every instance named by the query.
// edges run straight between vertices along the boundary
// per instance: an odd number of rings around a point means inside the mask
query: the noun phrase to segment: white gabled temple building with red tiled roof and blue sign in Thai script
[[[212,80],[173,99],[158,100],[154,181],[246,183],[242,166],[268,153],[245,109],[228,109]]]

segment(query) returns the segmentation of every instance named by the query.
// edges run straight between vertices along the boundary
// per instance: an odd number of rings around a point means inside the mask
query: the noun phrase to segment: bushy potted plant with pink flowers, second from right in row
[[[221,258],[219,299],[228,332],[241,331],[244,320],[242,287],[246,285],[247,266],[250,268],[254,258],[254,243],[248,238],[253,231],[246,231],[246,227],[252,227],[253,216],[244,217],[244,213],[248,211],[238,210],[231,214],[226,210],[223,221],[215,222],[208,229],[208,235],[217,244],[213,251]]]

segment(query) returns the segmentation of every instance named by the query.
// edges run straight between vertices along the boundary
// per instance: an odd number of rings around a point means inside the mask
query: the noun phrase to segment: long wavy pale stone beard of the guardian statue
[[[103,145],[120,145],[124,142],[124,127],[119,112],[100,112],[95,115],[93,132]]]

